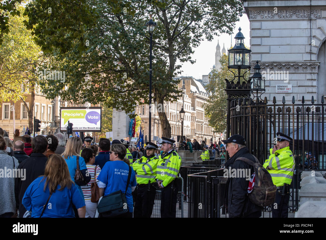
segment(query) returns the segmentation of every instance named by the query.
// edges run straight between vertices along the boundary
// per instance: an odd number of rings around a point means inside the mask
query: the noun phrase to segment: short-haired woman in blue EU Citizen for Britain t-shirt
[[[107,196],[119,190],[125,193],[129,173],[129,166],[123,161],[126,153],[127,150],[123,144],[112,144],[110,161],[105,163],[101,173],[97,177],[97,186],[99,187],[100,197],[103,195]],[[135,190],[136,185],[135,172],[131,168],[130,182],[126,192],[126,201],[129,212],[117,215],[116,217],[132,217],[133,200],[131,192]]]

